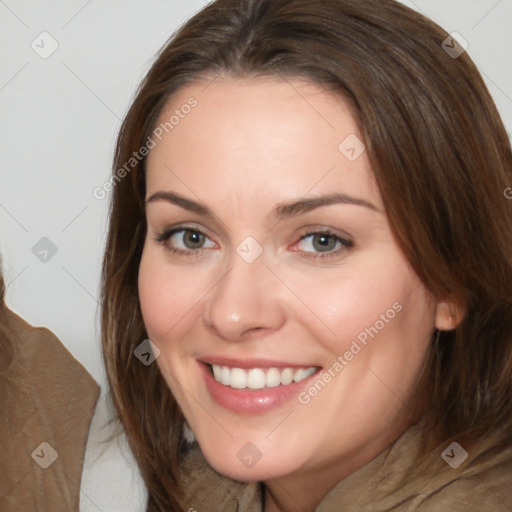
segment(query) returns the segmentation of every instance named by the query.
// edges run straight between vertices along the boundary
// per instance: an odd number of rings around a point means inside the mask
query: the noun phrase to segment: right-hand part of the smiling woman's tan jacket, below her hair
[[[493,446],[489,436],[468,447],[467,459],[452,467],[442,445],[419,458],[421,432],[420,425],[411,427],[340,481],[318,512],[512,511],[512,446],[484,457]]]

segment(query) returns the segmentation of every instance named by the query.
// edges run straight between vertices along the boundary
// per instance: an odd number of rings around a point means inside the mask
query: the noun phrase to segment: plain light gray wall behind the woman
[[[403,3],[469,43],[511,133],[512,0]],[[108,179],[116,132],[155,52],[203,5],[0,0],[0,251],[7,303],[51,329],[103,387],[97,301],[108,198],[97,200],[92,191]],[[43,59],[31,45],[35,40],[40,52],[48,51],[50,39],[40,37],[45,31],[58,48]],[[32,251],[43,237],[57,248],[46,262]]]

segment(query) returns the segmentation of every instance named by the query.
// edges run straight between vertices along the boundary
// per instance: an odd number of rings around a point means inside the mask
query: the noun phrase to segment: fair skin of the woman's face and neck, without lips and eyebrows
[[[139,293],[148,335],[208,462],[231,478],[265,481],[266,512],[312,510],[410,425],[426,350],[434,327],[453,327],[451,306],[405,260],[366,153],[351,162],[338,149],[359,134],[343,99],[299,79],[221,77],[183,88],[161,119],[190,96],[197,107],[150,152],[146,197],[177,192],[214,217],[147,203]],[[332,193],[375,209],[334,204],[271,217],[278,203]],[[170,251],[194,251],[183,232],[155,240],[184,223],[207,235],[190,258]],[[300,239],[325,228],[353,246],[333,242],[322,260],[313,236]],[[250,264],[236,252],[247,236],[263,249]],[[330,368],[395,303],[401,311],[307,405],[228,411],[198,369],[212,354]],[[262,454],[250,468],[237,457],[247,442]]]

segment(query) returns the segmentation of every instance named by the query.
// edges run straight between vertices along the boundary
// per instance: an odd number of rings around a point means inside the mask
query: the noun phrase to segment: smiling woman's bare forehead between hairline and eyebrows
[[[194,106],[191,106],[194,105]],[[216,78],[183,87],[167,103],[147,165],[148,193],[174,187],[227,200],[365,194],[380,206],[355,116],[339,95],[274,77]],[[348,141],[348,142],[347,142]],[[190,192],[190,190],[189,190]]]

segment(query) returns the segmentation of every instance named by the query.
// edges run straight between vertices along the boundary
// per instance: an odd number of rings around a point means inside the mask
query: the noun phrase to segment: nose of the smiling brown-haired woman
[[[246,263],[234,254],[231,263],[204,304],[202,318],[207,329],[228,341],[279,329],[285,321],[280,282],[264,258]]]

